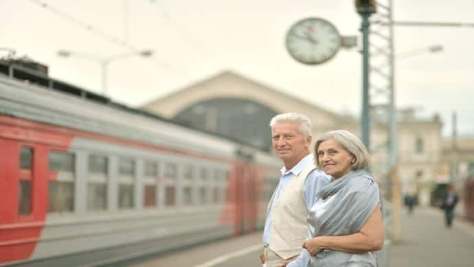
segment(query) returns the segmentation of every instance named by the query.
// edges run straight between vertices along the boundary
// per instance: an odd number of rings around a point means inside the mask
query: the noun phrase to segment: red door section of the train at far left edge
[[[5,132],[3,132],[5,134]],[[0,264],[32,255],[47,211],[47,147],[0,136]]]

